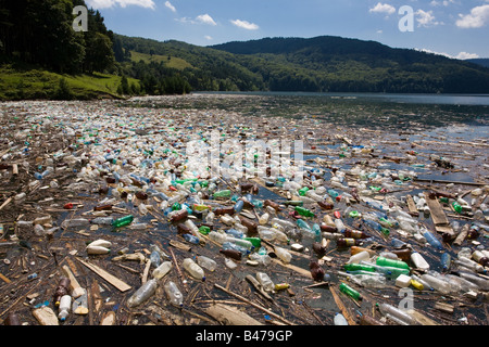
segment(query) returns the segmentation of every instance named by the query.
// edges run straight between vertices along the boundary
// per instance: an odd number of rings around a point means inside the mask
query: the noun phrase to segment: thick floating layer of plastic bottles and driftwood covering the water
[[[5,325],[488,322],[487,138],[1,108]]]

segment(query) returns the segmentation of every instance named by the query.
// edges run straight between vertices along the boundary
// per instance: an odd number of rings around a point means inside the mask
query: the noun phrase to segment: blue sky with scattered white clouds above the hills
[[[489,0],[85,0],[116,34],[197,46],[340,36],[489,57]]]

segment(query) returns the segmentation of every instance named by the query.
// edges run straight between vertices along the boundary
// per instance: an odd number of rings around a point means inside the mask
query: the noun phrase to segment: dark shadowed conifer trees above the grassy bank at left
[[[84,0],[0,0],[1,52],[8,59],[61,74],[113,67],[113,33],[98,11],[89,10],[89,30],[73,29],[73,9]]]

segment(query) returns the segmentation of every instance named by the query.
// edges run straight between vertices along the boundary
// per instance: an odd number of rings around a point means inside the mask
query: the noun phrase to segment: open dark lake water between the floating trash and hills
[[[487,127],[489,124],[487,94],[196,92],[183,98],[135,98],[130,104],[314,118],[377,129],[426,130],[447,126]],[[481,130],[485,129],[478,129]]]

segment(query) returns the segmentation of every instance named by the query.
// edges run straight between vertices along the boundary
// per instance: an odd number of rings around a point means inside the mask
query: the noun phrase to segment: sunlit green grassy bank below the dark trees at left
[[[128,79],[128,82],[138,82]],[[36,99],[120,99],[121,77],[95,73],[92,75],[60,75],[40,68],[0,66],[0,100]]]

